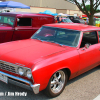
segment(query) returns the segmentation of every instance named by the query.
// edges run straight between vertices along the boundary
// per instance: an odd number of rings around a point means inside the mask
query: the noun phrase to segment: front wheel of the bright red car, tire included
[[[67,83],[67,73],[64,70],[59,70],[55,72],[50,81],[48,83],[47,88],[45,89],[45,93],[49,97],[56,97],[58,96],[65,88]]]

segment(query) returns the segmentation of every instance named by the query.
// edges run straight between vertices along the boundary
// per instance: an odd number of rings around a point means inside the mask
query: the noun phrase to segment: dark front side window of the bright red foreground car
[[[80,48],[84,47],[85,44],[93,45],[97,43],[98,43],[98,38],[96,31],[84,32]]]

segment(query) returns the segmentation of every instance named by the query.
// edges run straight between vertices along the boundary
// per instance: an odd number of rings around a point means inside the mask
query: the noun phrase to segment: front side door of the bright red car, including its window
[[[84,44],[84,45],[83,45]],[[85,47],[85,45],[89,45]],[[97,65],[99,65],[100,44],[98,43],[98,35],[96,31],[84,32],[80,48],[80,67],[79,73],[82,74]]]

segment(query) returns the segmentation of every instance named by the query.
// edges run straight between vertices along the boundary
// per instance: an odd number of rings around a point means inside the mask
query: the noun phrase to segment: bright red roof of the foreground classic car
[[[56,23],[56,24],[45,24],[44,26],[58,27],[58,28],[71,29],[77,31],[100,30],[100,27],[84,25],[80,23]]]

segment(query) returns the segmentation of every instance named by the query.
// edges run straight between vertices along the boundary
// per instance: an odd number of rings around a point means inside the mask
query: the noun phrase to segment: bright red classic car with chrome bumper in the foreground
[[[0,80],[58,96],[68,80],[100,65],[100,28],[60,23],[0,44]]]

